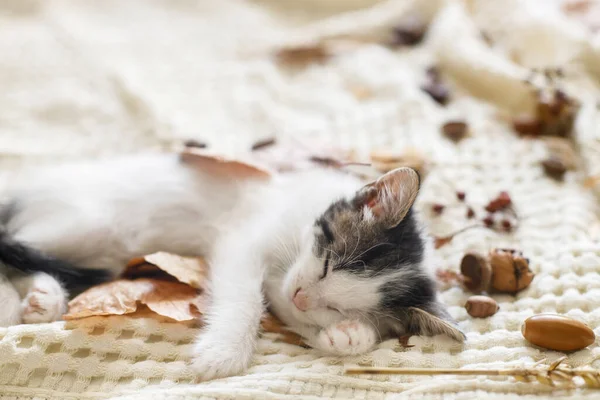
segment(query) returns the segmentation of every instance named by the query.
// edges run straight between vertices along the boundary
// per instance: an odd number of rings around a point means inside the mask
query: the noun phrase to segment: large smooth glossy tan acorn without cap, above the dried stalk
[[[521,333],[528,342],[556,351],[581,350],[596,340],[594,331],[583,322],[556,314],[527,318]]]

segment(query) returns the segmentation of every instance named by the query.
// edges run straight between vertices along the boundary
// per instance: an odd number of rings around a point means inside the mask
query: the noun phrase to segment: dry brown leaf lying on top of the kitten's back
[[[182,150],[180,159],[182,162],[193,165],[209,174],[229,178],[269,179],[272,175],[266,168],[258,165],[208,154],[201,149],[193,147]]]

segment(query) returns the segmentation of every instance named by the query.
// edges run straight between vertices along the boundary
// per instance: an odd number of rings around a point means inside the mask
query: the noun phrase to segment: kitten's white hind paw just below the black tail
[[[21,318],[25,324],[58,321],[67,311],[67,296],[59,283],[44,280],[34,285],[21,301]]]

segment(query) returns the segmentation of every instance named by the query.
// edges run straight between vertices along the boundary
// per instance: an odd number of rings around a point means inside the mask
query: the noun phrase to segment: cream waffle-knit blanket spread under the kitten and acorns
[[[385,31],[411,10],[431,26],[417,48],[364,44],[323,65],[290,72],[269,56],[276,44]],[[493,48],[479,30],[494,39]],[[438,64],[453,100],[440,107],[419,90]],[[542,143],[516,137],[507,122],[526,109],[521,79],[530,67],[562,66],[565,89],[583,102],[577,142],[585,163],[564,183],[545,177]],[[548,386],[469,377],[344,376],[344,364],[500,368],[560,353],[528,345],[520,324],[556,312],[600,333],[598,198],[581,182],[600,174],[600,35],[567,17],[559,1],[153,0],[0,1],[0,167],[58,158],[164,148],[196,138],[223,152],[257,139],[329,138],[366,152],[412,146],[432,160],[421,206],[465,190],[480,206],[501,190],[523,219],[512,235],[474,230],[437,251],[440,268],[458,268],[467,250],[522,249],[537,274],[517,296],[496,296],[500,311],[469,317],[468,296],[442,299],[467,332],[413,337],[412,348],[382,343],[370,354],[337,359],[260,340],[244,376],[193,384],[188,368],[196,330],[124,317],[0,329],[0,396],[11,399],[188,398],[522,398]],[[368,96],[357,96],[359,88]],[[471,136],[454,145],[440,134],[465,119]],[[600,194],[596,186],[595,194]],[[461,211],[462,212],[462,211]],[[432,226],[464,225],[449,211]],[[568,355],[600,367],[600,348]],[[600,392],[557,392],[599,397]]]

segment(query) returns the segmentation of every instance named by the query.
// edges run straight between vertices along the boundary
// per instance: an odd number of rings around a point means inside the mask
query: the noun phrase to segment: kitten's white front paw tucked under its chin
[[[323,329],[313,347],[333,355],[356,355],[368,352],[377,343],[375,330],[363,322],[346,320]]]

